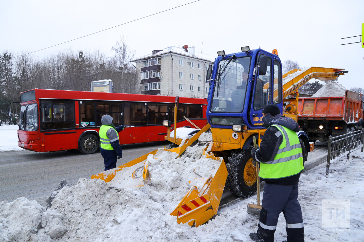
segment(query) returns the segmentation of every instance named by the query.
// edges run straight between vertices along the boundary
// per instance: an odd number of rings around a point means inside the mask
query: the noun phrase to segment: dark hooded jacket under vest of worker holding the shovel
[[[267,114],[263,118],[264,126],[268,127],[264,133],[264,138],[260,143],[259,149],[252,150],[252,156],[255,161],[265,163],[267,161],[273,160],[274,156],[277,155],[279,146],[283,141],[283,136],[280,135],[281,132],[273,124],[278,124],[293,130],[294,132],[300,131],[300,126],[291,118],[277,114],[271,116]],[[277,133],[278,132],[278,133]],[[278,179],[262,179],[267,183],[280,184],[280,185],[294,185],[298,183],[300,179],[300,173],[294,176],[278,178]]]

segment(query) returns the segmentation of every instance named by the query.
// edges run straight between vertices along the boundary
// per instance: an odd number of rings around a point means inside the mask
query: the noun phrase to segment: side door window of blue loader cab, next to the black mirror
[[[272,94],[270,93],[270,80],[272,79],[272,73],[270,67],[272,67],[272,59],[267,56],[267,71],[265,75],[259,75],[259,70],[257,70],[257,78],[254,78],[254,110],[260,110],[272,102]]]

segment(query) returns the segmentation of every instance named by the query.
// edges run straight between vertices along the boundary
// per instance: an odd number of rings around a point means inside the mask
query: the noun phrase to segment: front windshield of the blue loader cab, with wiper
[[[219,62],[211,112],[242,112],[250,60],[249,56],[245,56],[232,59],[228,65],[225,60]]]

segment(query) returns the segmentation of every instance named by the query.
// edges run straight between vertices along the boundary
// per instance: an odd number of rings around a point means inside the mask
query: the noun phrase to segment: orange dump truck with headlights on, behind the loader
[[[327,141],[363,126],[363,100],[360,93],[345,91],[343,97],[298,99],[298,124],[312,140]]]

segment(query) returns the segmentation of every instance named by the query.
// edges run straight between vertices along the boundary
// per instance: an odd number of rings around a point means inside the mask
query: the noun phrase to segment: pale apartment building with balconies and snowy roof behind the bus
[[[142,94],[207,98],[205,76],[214,60],[185,45],[153,50],[132,62],[140,73]]]

